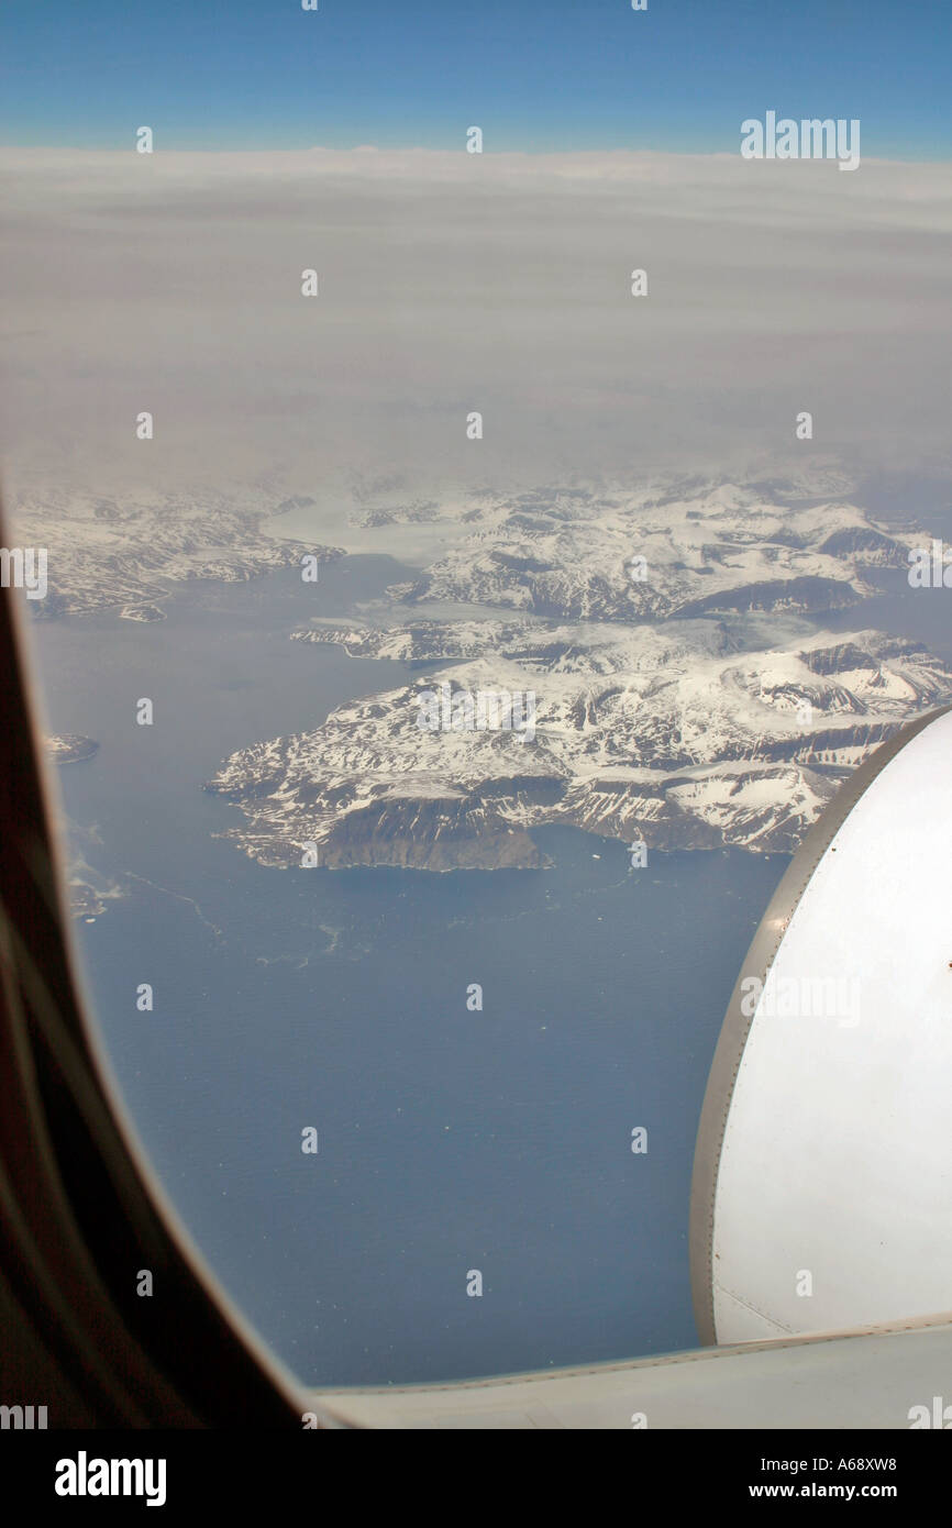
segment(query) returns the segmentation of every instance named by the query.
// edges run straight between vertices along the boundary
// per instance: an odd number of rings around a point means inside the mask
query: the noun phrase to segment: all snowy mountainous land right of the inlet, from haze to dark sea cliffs
[[[426,672],[234,753],[208,788],[240,804],[231,836],[272,865],[316,845],[332,868],[536,866],[529,830],[553,822],[656,848],[792,850],[871,749],[952,700],[952,672],[862,622],[805,634],[788,616],[859,604],[865,570],[906,567],[920,541],[850,503],[744,484],[486,495],[454,549],[394,587],[410,619],[293,633]],[[437,619],[414,617],[423,601]],[[446,602],[468,608],[454,619]],[[440,685],[532,692],[532,735],[422,729]]]

